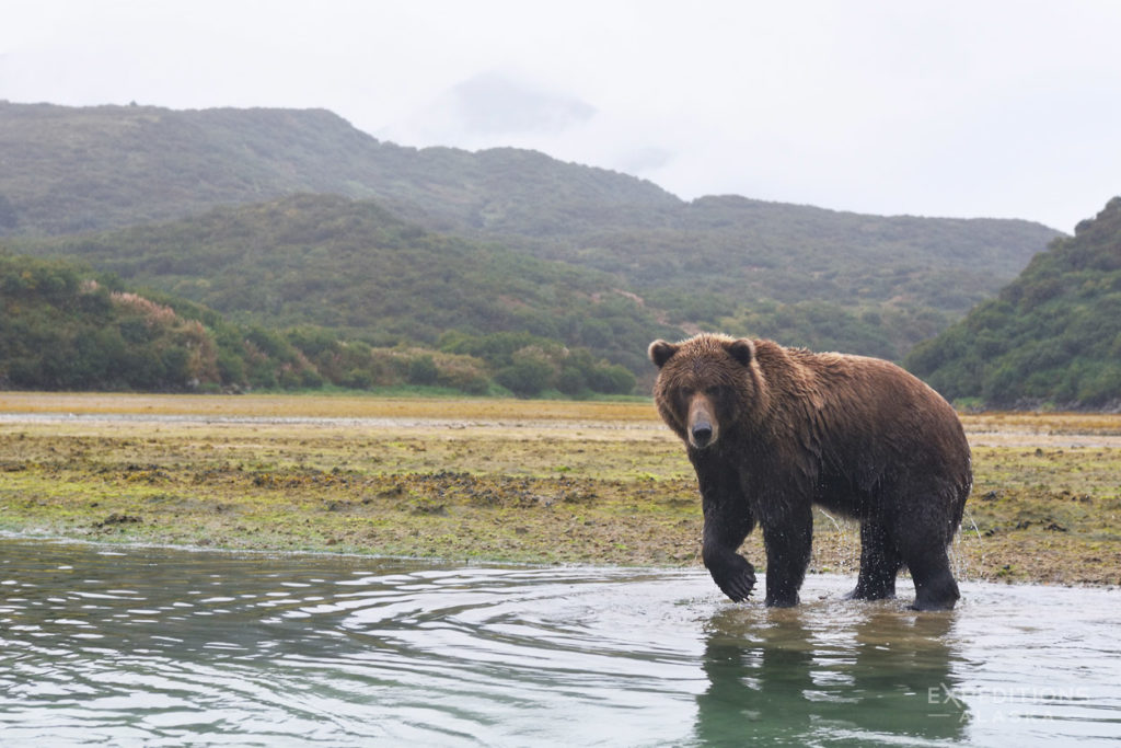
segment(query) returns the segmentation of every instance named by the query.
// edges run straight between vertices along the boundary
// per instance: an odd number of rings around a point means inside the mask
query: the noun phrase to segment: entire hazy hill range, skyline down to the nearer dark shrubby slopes
[[[702,327],[900,359],[1059,236],[685,202],[535,151],[399,147],[323,110],[0,102],[0,161],[8,252],[245,323],[424,344],[520,327],[639,375],[645,341]]]

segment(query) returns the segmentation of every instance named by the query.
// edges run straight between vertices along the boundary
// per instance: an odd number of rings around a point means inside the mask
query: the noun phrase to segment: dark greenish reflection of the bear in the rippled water
[[[892,603],[721,610],[706,631],[710,687],[697,699],[696,738],[960,738],[967,712],[943,698],[956,685],[952,625],[953,613],[915,615]]]

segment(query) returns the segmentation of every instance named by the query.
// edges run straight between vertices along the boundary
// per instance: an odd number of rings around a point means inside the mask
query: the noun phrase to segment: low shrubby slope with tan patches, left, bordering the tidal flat
[[[0,389],[243,391],[326,385],[471,395],[629,394],[634,376],[527,332],[374,347],[327,330],[234,324],[64,260],[0,255]]]

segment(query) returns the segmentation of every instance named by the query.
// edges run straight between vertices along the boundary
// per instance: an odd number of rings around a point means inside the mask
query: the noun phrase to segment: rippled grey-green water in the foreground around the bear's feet
[[[964,584],[915,613],[852,583],[767,610],[703,571],[0,538],[0,744],[1121,739],[1121,592]]]

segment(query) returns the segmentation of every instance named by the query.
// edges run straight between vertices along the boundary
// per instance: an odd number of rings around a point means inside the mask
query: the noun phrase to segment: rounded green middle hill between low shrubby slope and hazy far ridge
[[[81,260],[233,322],[313,325],[373,345],[518,332],[645,371],[651,335],[683,334],[605,274],[425,231],[374,203],[333,195],[8,244]]]

